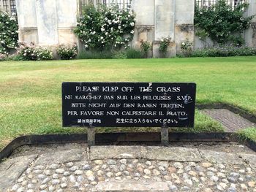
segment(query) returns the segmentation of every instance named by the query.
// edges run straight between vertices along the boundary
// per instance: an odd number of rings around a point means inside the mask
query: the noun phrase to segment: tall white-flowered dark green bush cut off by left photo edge
[[[18,46],[18,22],[15,16],[0,12],[0,53],[8,55]]]

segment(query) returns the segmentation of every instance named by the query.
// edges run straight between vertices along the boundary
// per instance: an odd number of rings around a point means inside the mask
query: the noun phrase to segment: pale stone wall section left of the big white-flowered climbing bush
[[[16,0],[20,42],[39,46],[78,43],[76,0]]]

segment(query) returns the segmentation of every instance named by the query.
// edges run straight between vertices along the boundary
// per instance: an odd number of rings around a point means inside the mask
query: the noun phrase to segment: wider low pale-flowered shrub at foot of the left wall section
[[[53,53],[46,47],[35,47],[34,43],[30,45],[20,45],[20,57],[25,61],[44,61],[52,60]]]

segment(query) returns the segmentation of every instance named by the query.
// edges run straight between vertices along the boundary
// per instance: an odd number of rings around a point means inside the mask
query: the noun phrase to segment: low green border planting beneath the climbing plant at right
[[[228,57],[228,56],[252,56],[256,55],[255,47],[209,47],[194,50],[191,57]]]

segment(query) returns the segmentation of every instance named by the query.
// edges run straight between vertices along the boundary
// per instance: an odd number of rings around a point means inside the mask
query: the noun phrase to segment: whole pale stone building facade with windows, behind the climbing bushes
[[[211,6],[217,0],[0,0],[0,9],[16,13],[20,42],[35,42],[39,46],[59,44],[79,45],[73,29],[84,4],[117,4],[133,9],[136,14],[135,37],[132,47],[140,47],[140,40],[152,43],[153,57],[159,57],[159,42],[171,37],[168,56],[180,53],[181,42],[188,39],[195,48],[203,42],[195,36],[194,12],[197,6]],[[241,1],[249,3],[245,15],[256,14],[255,0],[227,0],[232,7]],[[28,6],[29,5],[29,6]],[[17,10],[17,11],[16,11]],[[246,45],[256,47],[256,18],[244,32]],[[211,40],[208,39],[211,44]]]

